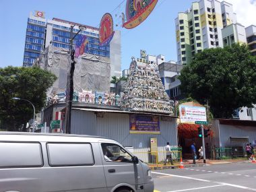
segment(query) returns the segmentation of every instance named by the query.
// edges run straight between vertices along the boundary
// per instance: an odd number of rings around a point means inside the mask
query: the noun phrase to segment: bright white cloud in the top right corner
[[[256,0],[226,0],[233,5],[236,20],[243,26],[256,25]]]

